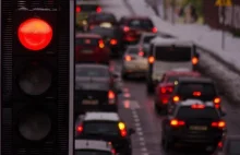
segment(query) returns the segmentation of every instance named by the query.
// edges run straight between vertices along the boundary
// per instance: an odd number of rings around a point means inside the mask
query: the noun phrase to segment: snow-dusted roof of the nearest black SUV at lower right
[[[189,107],[191,105],[205,105],[206,107],[214,108],[213,102],[203,102],[201,99],[185,99],[185,100],[179,102],[177,105],[179,105],[180,107],[182,106]]]

